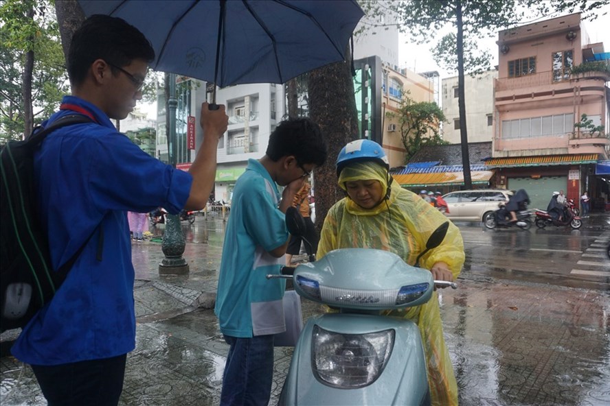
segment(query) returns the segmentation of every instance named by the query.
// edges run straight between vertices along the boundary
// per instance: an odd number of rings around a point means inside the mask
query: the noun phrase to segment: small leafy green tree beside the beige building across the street
[[[398,117],[400,138],[405,150],[405,163],[422,147],[428,145],[446,145],[439,134],[440,123],[446,121],[442,110],[436,103],[414,101],[408,92],[398,106],[398,112],[387,112],[387,117]]]

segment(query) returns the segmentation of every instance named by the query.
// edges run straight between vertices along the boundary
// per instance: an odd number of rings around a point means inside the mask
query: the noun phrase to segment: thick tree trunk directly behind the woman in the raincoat
[[[315,169],[315,228],[319,232],[330,206],[343,198],[337,187],[335,161],[341,148],[358,134],[354,82],[349,63],[337,62],[309,74],[310,118],[328,143],[326,163]]]

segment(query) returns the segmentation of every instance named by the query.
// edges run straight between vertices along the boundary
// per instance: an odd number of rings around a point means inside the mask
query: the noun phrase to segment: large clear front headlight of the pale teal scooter
[[[394,348],[393,329],[365,334],[339,334],[313,327],[313,374],[325,385],[344,389],[376,381]]]

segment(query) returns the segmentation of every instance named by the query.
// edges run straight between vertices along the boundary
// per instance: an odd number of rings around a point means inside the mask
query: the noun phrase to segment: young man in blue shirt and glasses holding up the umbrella
[[[188,172],[146,154],[113,120],[142,99],[155,51],[122,19],[93,15],[71,38],[71,95],[43,126],[67,115],[90,123],[55,130],[34,155],[41,224],[54,270],[82,252],[53,300],[13,344],[32,366],[48,405],[119,402],[127,353],[135,348],[135,272],[127,211],[170,213],[205,206],[216,174],[218,139],[227,130],[224,106],[201,108],[203,144]]]

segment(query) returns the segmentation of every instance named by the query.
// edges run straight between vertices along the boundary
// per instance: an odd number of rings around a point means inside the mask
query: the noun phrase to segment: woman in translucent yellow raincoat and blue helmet
[[[418,195],[400,188],[388,169],[383,148],[373,141],[357,140],[343,147],[337,158],[337,176],[348,197],[332,206],[324,219],[318,259],[338,248],[376,248],[394,252],[414,265],[431,233],[449,221]],[[430,270],[435,280],[454,280],[463,264],[462,236],[451,223],[440,246],[420,259],[420,266]],[[457,383],[442,335],[436,291],[425,305],[386,314],[418,324],[432,405],[457,405]]]

